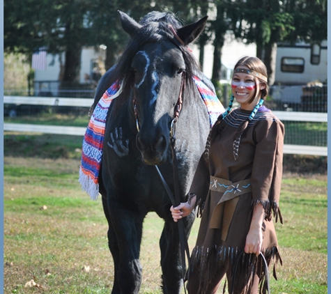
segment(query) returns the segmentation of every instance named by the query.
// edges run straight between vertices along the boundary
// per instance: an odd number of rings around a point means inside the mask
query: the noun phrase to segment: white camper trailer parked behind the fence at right
[[[305,42],[294,46],[278,45],[275,84],[271,87],[270,95],[287,110],[325,111],[327,78],[326,40],[321,45]],[[316,93],[321,97],[316,98]],[[318,102],[315,101],[317,104],[311,106],[313,98]]]

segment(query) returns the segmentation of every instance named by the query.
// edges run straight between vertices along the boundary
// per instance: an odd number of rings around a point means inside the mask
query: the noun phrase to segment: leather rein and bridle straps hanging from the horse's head
[[[171,189],[169,188],[169,185],[167,185],[167,182],[164,180],[164,177],[162,176],[162,173],[155,165],[155,169],[157,170],[157,173],[160,176],[160,179],[162,180],[162,184],[164,185],[164,189],[166,190],[169,199],[171,201],[172,206],[176,207],[180,205],[180,191],[179,191],[179,180],[178,180],[178,164],[177,164],[177,157],[176,157],[176,123],[178,121],[178,117],[180,114],[180,110],[183,106],[183,91],[185,90],[185,75],[183,73],[182,80],[180,82],[180,92],[178,95],[178,100],[176,103],[176,106],[174,108],[174,116],[171,121],[170,130],[169,130],[169,136],[170,136],[170,146],[171,146],[171,153],[172,153],[172,160],[173,160],[173,173],[174,173],[174,192],[175,195],[171,193]],[[134,117],[136,119],[136,126],[137,131],[140,130],[140,123],[139,123],[139,116],[138,116],[138,110],[137,110],[137,100],[134,92],[134,98],[132,100],[133,104],[133,111],[134,111]],[[186,233],[185,233],[185,227],[183,223],[183,219],[178,219],[178,231],[179,231],[179,242],[180,242],[180,256],[182,260],[182,274],[183,274],[183,281],[185,284],[185,274],[186,274],[186,261],[185,261],[185,254],[188,263],[190,262],[190,249],[188,247]],[[187,271],[188,273],[188,271]],[[186,288],[184,287],[185,293]]]

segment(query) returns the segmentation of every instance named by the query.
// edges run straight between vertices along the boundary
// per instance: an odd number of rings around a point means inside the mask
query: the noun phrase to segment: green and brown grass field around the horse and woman
[[[106,219],[101,201],[91,201],[79,187],[79,140],[5,134],[4,144],[4,293],[110,293],[114,272]],[[55,156],[56,147],[62,151]],[[270,279],[271,293],[326,294],[326,176],[286,173],[280,207],[283,266],[278,281]],[[144,222],[140,293],[161,293],[162,224],[153,212]],[[191,249],[198,227],[199,219]],[[36,285],[24,287],[32,279]]]

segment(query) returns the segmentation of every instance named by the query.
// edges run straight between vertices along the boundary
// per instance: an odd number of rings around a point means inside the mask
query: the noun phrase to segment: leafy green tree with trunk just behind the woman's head
[[[327,0],[235,0],[229,6],[231,29],[237,38],[256,43],[256,56],[265,63],[269,84],[275,81],[277,43],[327,38]]]

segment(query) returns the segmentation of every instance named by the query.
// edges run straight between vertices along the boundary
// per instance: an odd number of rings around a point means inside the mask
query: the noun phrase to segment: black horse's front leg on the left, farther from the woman
[[[115,279],[112,294],[137,294],[141,286],[142,268],[139,252],[144,216],[108,203],[111,231],[109,249],[114,258]],[[114,242],[116,240],[116,242]]]

